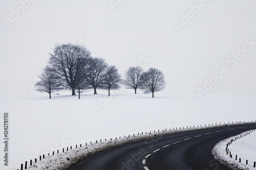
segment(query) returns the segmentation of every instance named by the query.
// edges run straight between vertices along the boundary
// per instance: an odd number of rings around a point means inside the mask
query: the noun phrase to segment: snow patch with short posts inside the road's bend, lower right
[[[227,144],[228,154],[226,152]],[[232,158],[229,152],[231,152]],[[243,132],[220,141],[212,149],[212,155],[231,169],[256,169],[253,167],[253,162],[256,161],[256,131]],[[236,155],[238,155],[237,160]],[[241,162],[239,162],[239,158],[241,158]],[[246,160],[248,160],[248,164],[246,164]]]

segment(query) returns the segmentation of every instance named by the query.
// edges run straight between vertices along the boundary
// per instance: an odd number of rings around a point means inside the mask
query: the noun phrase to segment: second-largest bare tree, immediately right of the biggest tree
[[[103,81],[106,77],[106,69],[108,64],[102,58],[91,58],[89,61],[89,67],[84,69],[84,77],[89,83],[90,87],[94,89],[94,94],[97,94],[97,88],[104,88]]]

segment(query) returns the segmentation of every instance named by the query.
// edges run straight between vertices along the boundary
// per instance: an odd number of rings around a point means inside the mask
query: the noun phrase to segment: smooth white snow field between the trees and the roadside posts
[[[0,112],[9,112],[10,122],[10,164],[4,167],[1,159],[0,169],[17,169],[25,161],[39,159],[39,155],[105,138],[158,129],[255,121],[255,95],[207,94],[199,99],[198,94],[163,91],[152,99],[151,94],[114,91],[108,97],[99,91],[98,95],[82,94],[77,100],[78,96],[70,96],[70,91],[59,93],[52,95],[51,100],[47,94],[0,99]]]

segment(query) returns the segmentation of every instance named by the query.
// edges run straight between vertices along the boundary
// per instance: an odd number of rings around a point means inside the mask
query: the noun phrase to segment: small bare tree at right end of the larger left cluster
[[[121,76],[118,74],[118,69],[115,66],[110,66],[108,69],[106,69],[105,79],[103,81],[103,85],[105,89],[109,90],[109,96],[110,96],[110,90],[118,90],[120,89],[120,82],[121,82]]]

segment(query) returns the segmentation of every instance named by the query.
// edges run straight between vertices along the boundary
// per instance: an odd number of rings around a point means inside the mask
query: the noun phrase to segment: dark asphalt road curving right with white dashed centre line
[[[229,169],[212,158],[211,149],[220,140],[252,129],[256,129],[256,124],[186,132],[125,144],[91,155],[70,170]]]

